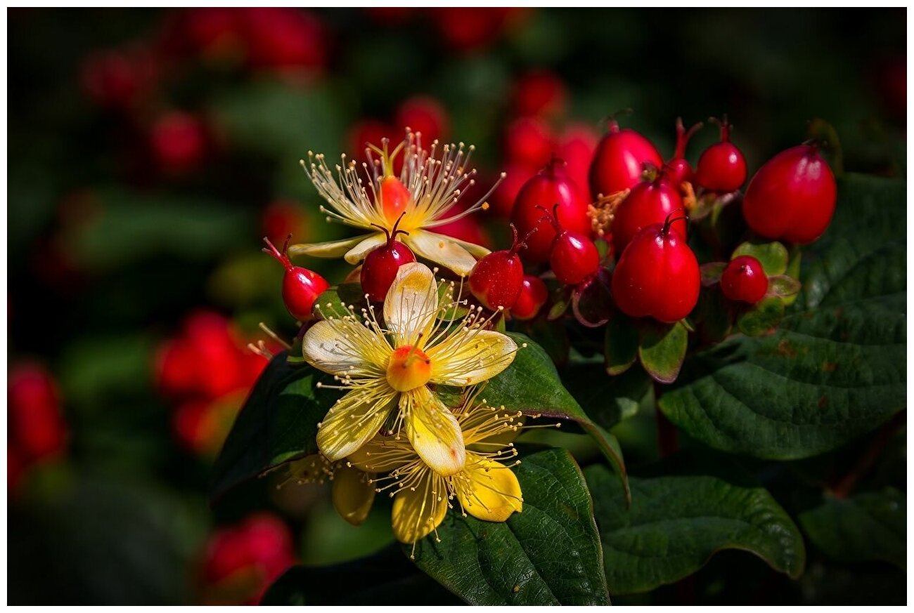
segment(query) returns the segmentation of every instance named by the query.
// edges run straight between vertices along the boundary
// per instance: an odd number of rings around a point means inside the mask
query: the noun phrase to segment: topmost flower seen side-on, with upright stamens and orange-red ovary
[[[371,155],[372,150],[380,154],[380,160]],[[404,162],[398,178],[393,175],[392,161],[401,150]],[[451,223],[486,206],[485,200],[495,186],[462,213],[449,213],[474,182],[476,171],[467,170],[472,153],[473,146],[464,148],[463,143],[441,146],[437,140],[427,151],[421,146],[420,135],[408,132],[406,140],[390,154],[386,142],[383,150],[372,147],[368,162],[361,164],[362,175],[356,161],[346,161],[345,155],[334,172],[323,154],[309,151],[310,163],[302,161],[302,167],[329,204],[329,208],[321,206],[327,221],[361,228],[368,234],[329,243],[293,244],[289,253],[317,257],[345,255],[346,262],[357,264],[387,241],[385,233],[393,232],[402,215],[398,228],[409,234],[401,235],[400,241],[420,257],[446,266],[458,275],[469,275],[476,263],[473,255],[482,257],[489,250],[430,232],[430,228]]]

